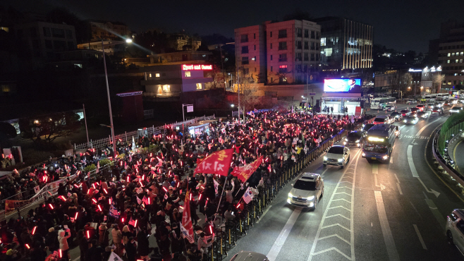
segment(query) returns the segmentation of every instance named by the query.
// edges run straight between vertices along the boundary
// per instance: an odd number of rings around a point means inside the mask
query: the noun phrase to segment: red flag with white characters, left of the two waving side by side
[[[219,150],[214,152],[197,165],[193,174],[219,174],[227,176],[228,168],[231,166],[233,149]]]

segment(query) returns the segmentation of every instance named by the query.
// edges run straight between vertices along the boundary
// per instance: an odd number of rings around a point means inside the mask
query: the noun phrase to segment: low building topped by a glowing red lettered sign
[[[212,65],[171,64],[140,68],[145,86],[145,95],[152,97],[177,97],[183,92],[197,92],[205,88],[212,78],[204,77],[205,71],[211,71]]]

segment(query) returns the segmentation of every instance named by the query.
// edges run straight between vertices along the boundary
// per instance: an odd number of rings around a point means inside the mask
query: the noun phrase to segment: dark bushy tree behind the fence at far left
[[[78,119],[78,114],[73,112],[57,112],[20,119],[19,126],[25,137],[41,146],[75,133],[80,128]]]

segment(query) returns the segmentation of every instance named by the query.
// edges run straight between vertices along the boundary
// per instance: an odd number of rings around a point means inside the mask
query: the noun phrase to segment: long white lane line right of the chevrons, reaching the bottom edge
[[[386,252],[389,254],[389,260],[400,260],[398,250],[396,250],[395,241],[391,234],[389,220],[386,218],[384,200],[381,197],[379,190],[374,190],[375,201],[377,203],[377,213],[379,214],[381,232],[384,235],[384,241],[386,245]]]

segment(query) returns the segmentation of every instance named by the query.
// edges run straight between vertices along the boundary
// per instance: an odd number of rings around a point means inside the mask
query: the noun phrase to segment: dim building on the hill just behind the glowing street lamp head
[[[131,37],[127,25],[119,22],[109,22],[102,20],[89,20],[92,33],[92,42],[98,40],[120,40],[121,38]]]

